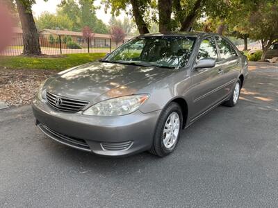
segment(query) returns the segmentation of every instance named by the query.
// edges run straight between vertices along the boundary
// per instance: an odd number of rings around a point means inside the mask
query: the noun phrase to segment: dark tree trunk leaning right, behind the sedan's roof
[[[193,10],[187,15],[187,17],[181,22],[181,29],[179,31],[189,31],[190,28],[193,26],[197,15],[199,13],[199,8],[201,7],[202,3],[206,0],[197,0],[195,2]]]

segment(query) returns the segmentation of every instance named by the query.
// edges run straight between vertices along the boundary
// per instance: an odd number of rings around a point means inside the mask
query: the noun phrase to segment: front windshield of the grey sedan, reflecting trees
[[[193,51],[196,37],[137,37],[103,60],[166,68],[183,67]]]

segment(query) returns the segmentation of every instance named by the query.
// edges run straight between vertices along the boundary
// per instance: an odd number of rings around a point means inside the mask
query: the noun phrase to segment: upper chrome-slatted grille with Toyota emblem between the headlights
[[[88,105],[89,102],[74,100],[72,98],[65,98],[47,92],[47,103],[51,107],[54,107],[56,110],[66,112],[79,112],[79,110],[82,110],[86,105]]]

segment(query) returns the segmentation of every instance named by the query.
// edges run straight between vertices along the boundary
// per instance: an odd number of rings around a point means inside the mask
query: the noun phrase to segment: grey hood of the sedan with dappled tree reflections
[[[46,87],[47,91],[59,96],[97,102],[105,98],[136,94],[138,90],[173,71],[158,67],[93,62],[62,71]]]

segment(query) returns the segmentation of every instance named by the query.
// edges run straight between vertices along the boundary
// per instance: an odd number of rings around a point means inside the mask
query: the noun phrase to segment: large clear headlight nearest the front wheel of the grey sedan
[[[122,116],[138,110],[140,105],[147,101],[147,98],[149,98],[147,94],[112,98],[92,105],[83,114],[91,116]]]

